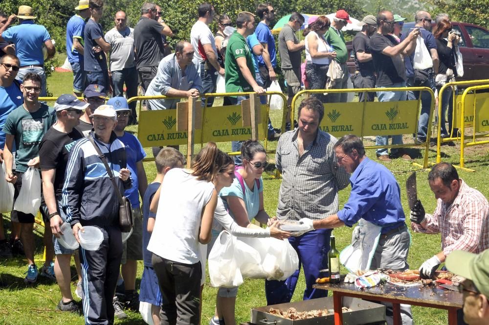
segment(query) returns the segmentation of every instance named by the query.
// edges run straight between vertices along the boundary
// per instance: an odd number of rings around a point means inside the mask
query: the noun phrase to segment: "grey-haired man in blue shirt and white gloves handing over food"
[[[334,144],[334,151],[338,165],[352,173],[352,191],[348,202],[343,209],[329,217],[320,220],[303,218],[300,222],[309,225],[309,230],[315,230],[352,227],[360,218],[368,221],[380,228],[370,269],[408,269],[407,255],[411,240],[396,179],[385,166],[365,156],[362,140],[354,135],[340,138]],[[362,229],[355,229],[356,237],[362,233]],[[392,308],[392,305],[386,306],[387,309]],[[402,324],[413,324],[411,306],[401,304],[400,309]]]

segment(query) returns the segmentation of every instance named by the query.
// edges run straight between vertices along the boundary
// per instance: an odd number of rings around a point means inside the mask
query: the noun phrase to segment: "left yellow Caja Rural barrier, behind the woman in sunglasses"
[[[253,92],[247,92],[247,93],[206,93],[203,95],[203,97],[208,98],[208,97],[225,97],[225,96],[243,96],[243,95],[252,95],[252,94],[256,94],[256,93],[253,93]],[[263,120],[261,124],[267,123],[267,119],[269,117],[269,110],[270,110],[269,100],[271,98],[271,95],[279,95],[282,97],[282,100],[284,102],[283,114],[282,114],[282,129],[285,129],[285,117],[287,115],[287,98],[285,97],[285,95],[283,93],[280,93],[280,92],[267,92],[266,95],[268,96],[268,102],[266,105],[266,111],[263,112],[263,114],[266,116],[266,120]],[[182,99],[182,98],[187,98],[187,97],[167,97],[164,95],[137,96],[137,97],[129,98],[128,102],[133,102],[135,100],[139,101],[139,116],[140,116],[141,111],[142,111],[142,101],[143,100],[170,99],[170,98]],[[196,141],[197,141],[197,139],[199,139],[200,144],[203,144],[204,142],[207,142],[209,140],[216,141],[215,139],[209,138],[204,134],[204,129],[206,129],[206,125],[204,125],[204,121],[208,118],[208,116],[206,116],[206,113],[208,114],[208,112],[210,112],[213,109],[223,110],[223,109],[233,109],[234,108],[236,110],[237,107],[238,106],[236,106],[236,105],[234,105],[234,106],[219,106],[219,107],[204,107],[202,109],[202,114],[201,114],[202,115],[201,116],[201,125],[200,125],[200,127],[196,128],[196,129],[198,129],[198,130],[196,130]],[[148,111],[146,111],[146,112],[148,112]],[[160,115],[163,114],[161,112],[166,112],[165,114],[170,113],[172,115],[176,114],[175,110],[155,110],[155,111],[149,111],[149,112],[152,112],[152,114],[156,114],[156,112],[160,112],[159,113]],[[222,112],[224,112],[224,111],[222,111]],[[177,123],[177,120],[174,119],[173,116],[170,116],[170,117],[171,117],[171,120],[167,121],[168,122],[167,128],[172,128]],[[239,121],[242,121],[242,120],[243,120],[243,116],[240,116],[239,114],[235,114],[235,115],[231,116],[231,119],[230,119],[231,123],[234,123],[234,124],[237,124],[237,123],[239,123]],[[159,122],[161,122],[161,121],[159,121]],[[162,121],[162,122],[165,123],[165,121]],[[147,126],[143,125],[143,124],[144,123],[141,123],[141,122],[138,124],[138,138],[141,141],[141,143],[147,142],[145,139],[143,139],[141,137],[146,136],[146,133],[148,133]],[[217,126],[217,125],[214,125],[214,126]],[[263,126],[265,126],[265,125],[263,125]],[[264,129],[264,128],[262,128],[262,129]],[[248,129],[246,128],[246,130],[248,130]],[[215,136],[223,138],[221,141],[216,141],[216,142],[229,141],[230,140],[229,137],[233,137],[233,140],[238,140],[238,139],[234,139],[234,138],[236,138],[236,137],[239,138],[239,136],[247,134],[246,133],[247,131],[242,133],[242,134],[239,134],[239,133],[232,134],[232,133],[229,133],[229,131],[227,131],[227,133],[226,133],[226,129],[224,129],[223,127],[222,127],[221,131],[222,131],[221,134],[219,134],[220,132],[217,129],[214,131],[214,132],[217,132],[214,134]],[[185,142],[185,138],[184,138],[185,135],[184,134],[176,133],[176,134],[172,134],[170,137],[172,138],[172,140],[175,140],[175,141],[172,141],[172,143],[166,143],[165,145],[179,145],[179,144],[186,144],[187,143],[187,142]],[[247,137],[244,137],[244,138],[247,138]],[[265,132],[265,131],[260,132],[260,138],[264,139],[265,149],[267,150],[267,142],[268,142],[267,141],[267,132]],[[165,140],[167,140],[167,139],[165,139]],[[145,143],[145,144],[147,144],[147,143]],[[143,147],[145,146],[145,144],[143,144]],[[155,145],[158,145],[158,144],[155,144]],[[267,150],[267,152],[273,153],[274,151]],[[230,155],[239,155],[240,152],[230,152],[229,154]],[[145,158],[144,161],[145,162],[154,161],[154,158],[151,158],[151,157]]]

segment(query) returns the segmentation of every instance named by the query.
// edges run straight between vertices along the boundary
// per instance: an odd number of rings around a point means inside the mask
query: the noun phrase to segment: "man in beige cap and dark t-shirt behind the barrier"
[[[377,29],[377,19],[372,15],[365,16],[359,23],[362,30],[353,39],[355,52],[355,74],[352,76],[355,88],[375,88],[375,68],[370,51],[370,36]],[[358,101],[374,101],[375,93],[358,93]]]

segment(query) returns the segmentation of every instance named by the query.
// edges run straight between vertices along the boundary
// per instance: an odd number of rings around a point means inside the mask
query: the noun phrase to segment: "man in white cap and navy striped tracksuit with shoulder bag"
[[[98,228],[104,239],[96,251],[82,246],[83,311],[85,324],[113,324],[113,296],[122,256],[122,235],[119,226],[118,191],[131,187],[131,172],[126,168],[126,148],[113,132],[117,117],[113,106],[101,105],[90,115],[93,131],[78,140],[70,150],[62,202],[68,222],[77,241],[84,227]],[[105,155],[115,184],[97,153]],[[102,167],[101,167],[102,166]]]

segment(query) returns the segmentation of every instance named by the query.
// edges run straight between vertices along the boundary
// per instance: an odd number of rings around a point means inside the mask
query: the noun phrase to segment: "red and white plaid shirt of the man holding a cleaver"
[[[426,229],[411,222],[415,232],[442,234],[443,254],[461,250],[474,254],[489,248],[489,204],[484,195],[460,180],[453,203],[438,200],[433,215],[426,214]]]

